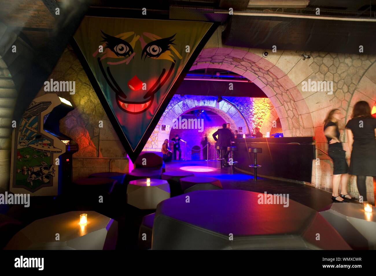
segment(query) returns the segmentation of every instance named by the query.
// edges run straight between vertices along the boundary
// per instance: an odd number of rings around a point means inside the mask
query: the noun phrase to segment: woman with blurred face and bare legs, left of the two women
[[[346,152],[342,148],[340,141],[340,130],[343,131],[341,119],[343,115],[339,109],[331,110],[324,121],[324,135],[328,140],[328,154],[333,160],[333,193],[332,200],[335,202],[347,202],[352,199],[347,194],[347,183],[349,182],[349,166],[346,162]],[[339,188],[341,183],[341,195]]]

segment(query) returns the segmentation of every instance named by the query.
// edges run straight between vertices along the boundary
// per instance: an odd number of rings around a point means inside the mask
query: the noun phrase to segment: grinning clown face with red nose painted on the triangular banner
[[[102,34],[105,50],[97,60],[108,85],[116,94],[117,106],[130,114],[145,112],[153,105],[156,92],[171,77],[176,59],[182,59],[172,46],[175,35],[161,38],[152,33],[136,35],[127,32],[117,36]],[[93,54],[98,55],[99,50]],[[109,59],[117,61],[107,61]],[[154,66],[155,63],[159,66]],[[159,67],[159,71],[150,72],[146,69],[155,67]],[[134,76],[124,79],[121,72],[130,68]]]

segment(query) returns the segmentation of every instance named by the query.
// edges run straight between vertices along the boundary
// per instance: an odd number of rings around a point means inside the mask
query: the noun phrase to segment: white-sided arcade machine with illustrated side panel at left
[[[11,192],[54,196],[70,185],[78,145],[60,132],[59,121],[73,109],[57,94],[30,103],[12,135]]]

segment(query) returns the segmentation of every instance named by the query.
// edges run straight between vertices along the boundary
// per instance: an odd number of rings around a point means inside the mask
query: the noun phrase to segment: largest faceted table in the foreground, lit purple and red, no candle
[[[259,195],[202,190],[162,201],[152,249],[351,249],[317,211],[293,200],[259,204]]]

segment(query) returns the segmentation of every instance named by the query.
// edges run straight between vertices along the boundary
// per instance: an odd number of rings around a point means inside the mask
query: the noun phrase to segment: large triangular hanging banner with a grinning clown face
[[[215,30],[201,21],[85,17],[76,53],[135,161]]]

